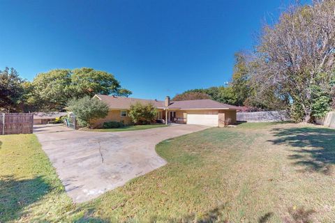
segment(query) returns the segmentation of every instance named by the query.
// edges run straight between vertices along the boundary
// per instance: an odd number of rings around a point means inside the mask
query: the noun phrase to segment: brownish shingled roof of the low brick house
[[[223,104],[210,99],[172,101],[168,107],[165,107],[164,101],[162,100],[146,100],[111,95],[95,95],[95,97],[103,100],[110,109],[129,109],[131,105],[135,105],[137,102],[142,104],[151,103],[154,107],[161,109],[236,109],[235,106]]]

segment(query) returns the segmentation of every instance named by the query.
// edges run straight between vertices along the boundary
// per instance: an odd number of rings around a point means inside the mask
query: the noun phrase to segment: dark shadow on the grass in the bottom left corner
[[[13,221],[20,217],[24,207],[29,206],[49,192],[43,178],[17,180],[13,176],[0,178],[0,222]]]

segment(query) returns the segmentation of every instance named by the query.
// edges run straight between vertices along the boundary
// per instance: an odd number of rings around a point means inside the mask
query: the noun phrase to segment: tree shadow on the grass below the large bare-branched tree
[[[306,167],[306,171],[331,174],[335,164],[335,130],[328,128],[275,128],[277,139],[273,144],[285,144],[295,148],[290,155],[294,164]]]

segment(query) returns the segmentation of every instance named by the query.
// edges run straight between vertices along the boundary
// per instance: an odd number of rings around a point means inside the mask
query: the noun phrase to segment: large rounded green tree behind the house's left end
[[[31,109],[38,111],[60,111],[69,100],[86,95],[131,94],[129,90],[121,89],[114,75],[93,68],[50,70],[36,75],[31,85],[27,101],[29,105],[35,105]]]

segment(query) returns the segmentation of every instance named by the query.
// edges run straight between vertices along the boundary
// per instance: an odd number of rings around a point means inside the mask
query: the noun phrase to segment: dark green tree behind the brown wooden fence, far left
[[[14,68],[0,70],[0,112],[21,111],[24,82]]]

